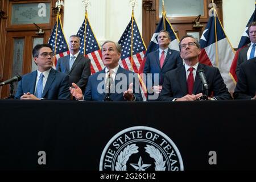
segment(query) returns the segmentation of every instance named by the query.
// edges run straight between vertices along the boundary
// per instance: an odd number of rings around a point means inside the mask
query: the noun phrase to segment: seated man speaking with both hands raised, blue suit
[[[106,41],[102,45],[105,68],[89,77],[84,96],[75,83],[71,94],[85,101],[143,101],[139,91],[138,76],[119,66],[122,48],[118,43]]]

